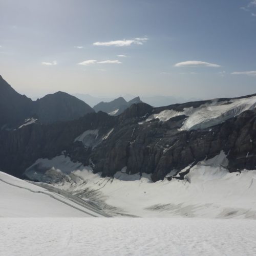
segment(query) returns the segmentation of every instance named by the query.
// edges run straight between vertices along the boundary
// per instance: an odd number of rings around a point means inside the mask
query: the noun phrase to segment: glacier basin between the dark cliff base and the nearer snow
[[[49,171],[39,175],[36,167],[37,173],[33,173],[32,165],[28,173],[37,180],[52,179],[54,187],[90,199],[112,216],[256,219],[256,170],[229,173],[223,152],[192,167],[184,180],[156,183],[150,175],[127,175],[125,168],[114,178],[103,178],[78,163],[79,168],[67,175],[69,161],[68,157],[66,162],[61,157],[40,159],[37,165]]]

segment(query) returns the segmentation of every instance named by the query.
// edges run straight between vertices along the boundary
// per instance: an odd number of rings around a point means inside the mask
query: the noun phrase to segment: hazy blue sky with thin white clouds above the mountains
[[[256,93],[256,0],[0,0],[0,46],[28,96]]]

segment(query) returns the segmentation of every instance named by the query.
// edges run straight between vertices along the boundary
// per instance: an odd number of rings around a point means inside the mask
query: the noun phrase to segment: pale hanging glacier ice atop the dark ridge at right
[[[246,110],[253,110],[255,107],[256,96],[232,99],[229,101],[212,100],[211,103],[202,104],[199,108],[184,108],[183,111],[180,112],[164,110],[148,117],[146,121],[151,121],[156,118],[160,121],[167,121],[170,118],[185,115],[188,118],[179,129],[180,131],[205,129],[235,117]]]

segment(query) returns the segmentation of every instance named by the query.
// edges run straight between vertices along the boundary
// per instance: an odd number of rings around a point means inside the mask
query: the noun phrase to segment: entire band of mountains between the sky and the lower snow
[[[66,179],[79,166],[103,177],[145,173],[152,181],[183,180],[215,157],[230,173],[256,166],[256,94],[158,108],[119,97],[92,109],[62,92],[32,101],[1,77],[0,125],[0,168],[44,182]]]

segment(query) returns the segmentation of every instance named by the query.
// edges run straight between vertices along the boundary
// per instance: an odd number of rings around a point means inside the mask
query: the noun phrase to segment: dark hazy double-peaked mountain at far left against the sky
[[[92,112],[88,104],[63,92],[32,101],[17,93],[0,76],[0,130],[18,127],[31,117],[41,123],[52,123],[77,119]]]

